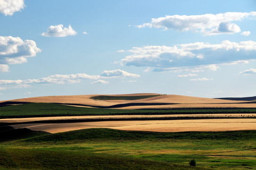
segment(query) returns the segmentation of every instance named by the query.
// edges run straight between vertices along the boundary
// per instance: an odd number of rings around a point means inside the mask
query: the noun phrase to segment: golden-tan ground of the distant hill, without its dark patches
[[[230,101],[211,98],[190,97],[182,95],[162,95],[155,93],[120,94],[112,96],[138,96],[138,95],[158,95],[140,100],[94,100],[90,97],[94,95],[71,95],[71,96],[45,96],[25,99],[11,100],[12,102],[58,102],[76,103],[92,106],[111,106],[124,103],[170,103],[170,105],[150,105],[150,106],[129,106],[119,109],[147,109],[147,108],[192,108],[192,107],[246,107],[256,108],[256,103],[241,103],[243,101]],[[247,102],[247,101],[244,101]]]

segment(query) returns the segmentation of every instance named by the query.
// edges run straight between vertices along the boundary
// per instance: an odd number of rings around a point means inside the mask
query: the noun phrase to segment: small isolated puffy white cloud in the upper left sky
[[[76,35],[77,32],[69,25],[68,28],[63,25],[49,26],[46,33],[42,33],[41,35],[47,37],[65,37],[68,35]]]

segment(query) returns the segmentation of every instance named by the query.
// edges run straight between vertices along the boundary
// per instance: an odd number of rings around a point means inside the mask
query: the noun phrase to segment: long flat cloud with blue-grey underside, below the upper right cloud
[[[197,71],[200,69],[217,70],[216,64],[239,64],[256,59],[256,42],[230,42],[228,40],[219,44],[194,42],[174,46],[133,47],[126,52],[132,54],[115,63],[126,66],[154,67],[154,71],[168,71],[173,68],[176,70],[195,68]]]

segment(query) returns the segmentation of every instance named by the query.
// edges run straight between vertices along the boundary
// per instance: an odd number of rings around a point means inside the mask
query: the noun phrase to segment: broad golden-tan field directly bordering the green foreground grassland
[[[155,132],[182,131],[227,131],[256,130],[256,119],[196,119],[196,120],[144,120],[144,121],[101,121],[82,123],[42,123],[12,125],[14,128],[29,128],[50,133],[85,128],[112,128]]]

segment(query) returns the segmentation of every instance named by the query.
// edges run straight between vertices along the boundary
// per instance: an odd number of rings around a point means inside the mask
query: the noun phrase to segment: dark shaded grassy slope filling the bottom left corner
[[[43,149],[0,149],[9,170],[184,170],[189,166],[102,153]],[[29,161],[25,161],[29,160]],[[1,168],[0,168],[1,169]],[[200,168],[199,168],[200,170]],[[203,170],[201,168],[201,170]]]

